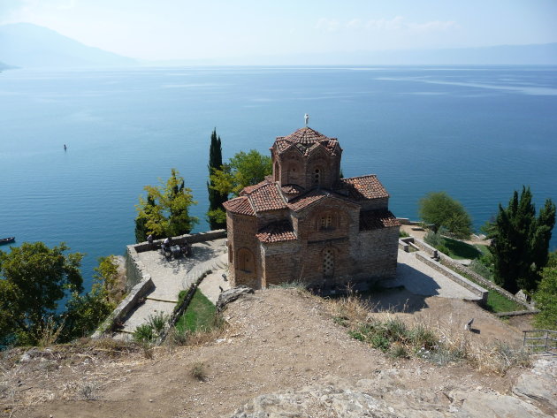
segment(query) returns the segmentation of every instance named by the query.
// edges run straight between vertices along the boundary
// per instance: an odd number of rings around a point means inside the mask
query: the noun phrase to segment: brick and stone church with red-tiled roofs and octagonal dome
[[[270,149],[272,175],[224,203],[231,285],[326,293],[393,278],[400,223],[377,176],[341,179],[339,141],[307,124]]]

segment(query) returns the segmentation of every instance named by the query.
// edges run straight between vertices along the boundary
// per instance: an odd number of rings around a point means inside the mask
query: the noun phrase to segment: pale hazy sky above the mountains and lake
[[[557,0],[0,0],[30,22],[145,59],[557,42]]]

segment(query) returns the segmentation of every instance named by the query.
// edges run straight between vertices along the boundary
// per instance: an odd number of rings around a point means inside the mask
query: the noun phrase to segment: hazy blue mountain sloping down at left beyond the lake
[[[135,65],[133,58],[88,47],[46,27],[30,23],[0,26],[0,57],[20,67]]]

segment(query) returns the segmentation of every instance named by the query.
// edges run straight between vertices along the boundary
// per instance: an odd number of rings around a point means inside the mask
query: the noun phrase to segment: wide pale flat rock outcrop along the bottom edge
[[[523,399],[494,391],[409,390],[397,387],[395,374],[384,377],[356,384],[332,377],[301,390],[261,395],[238,408],[231,418],[549,418]]]

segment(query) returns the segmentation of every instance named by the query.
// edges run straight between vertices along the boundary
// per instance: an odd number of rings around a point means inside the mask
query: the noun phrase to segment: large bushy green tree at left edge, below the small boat
[[[64,243],[25,242],[0,251],[0,339],[35,344],[56,317],[57,302],[66,292],[80,293],[83,255],[67,250]]]

